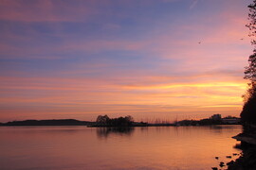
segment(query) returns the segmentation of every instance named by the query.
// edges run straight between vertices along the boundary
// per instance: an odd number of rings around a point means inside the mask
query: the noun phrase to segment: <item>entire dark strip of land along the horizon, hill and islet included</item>
[[[23,126],[85,126],[85,127],[190,127],[190,126],[213,126],[213,125],[241,125],[240,118],[224,117],[214,114],[207,119],[181,120],[169,123],[135,122],[132,116],[109,118],[108,115],[99,115],[95,122],[80,121],[76,119],[51,119],[51,120],[24,120],[0,123],[0,127],[23,127]]]

